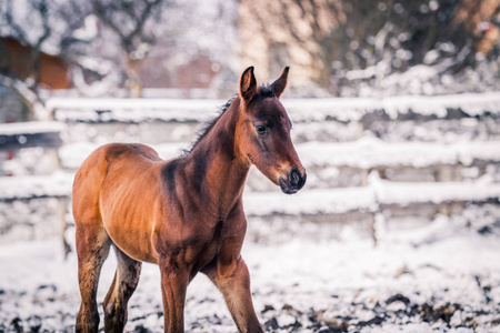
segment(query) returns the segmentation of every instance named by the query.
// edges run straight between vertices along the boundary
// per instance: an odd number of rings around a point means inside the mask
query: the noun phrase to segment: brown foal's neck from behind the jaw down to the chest
[[[209,131],[193,148],[189,159],[198,168],[194,179],[200,184],[212,214],[226,219],[241,200],[250,165],[242,160],[234,144],[234,131],[240,117],[240,100],[234,99]],[[196,169],[194,169],[196,170]]]

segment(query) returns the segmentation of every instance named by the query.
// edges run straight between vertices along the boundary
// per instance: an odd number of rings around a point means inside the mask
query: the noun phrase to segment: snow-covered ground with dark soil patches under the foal
[[[499,215],[498,205],[471,205],[384,230],[377,246],[349,224],[251,219],[242,255],[259,320],[268,332],[500,332]],[[258,233],[277,238],[256,241]],[[114,265],[111,253],[98,302]],[[73,330],[77,262],[74,253],[62,259],[59,239],[1,244],[0,271],[1,332]],[[159,283],[158,268],[144,264],[127,332],[162,332]],[[186,331],[236,332],[202,275],[189,287]]]

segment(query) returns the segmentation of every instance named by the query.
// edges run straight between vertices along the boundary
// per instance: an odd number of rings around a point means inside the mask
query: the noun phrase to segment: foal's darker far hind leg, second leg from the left
[[[118,246],[114,246],[114,252],[118,268],[103,303],[106,332],[123,332],[127,323],[127,304],[139,283],[142,266],[141,262],[131,259]]]

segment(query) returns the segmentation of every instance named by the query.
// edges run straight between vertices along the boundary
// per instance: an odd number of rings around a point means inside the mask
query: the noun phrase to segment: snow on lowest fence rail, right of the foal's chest
[[[500,184],[483,182],[390,182],[370,175],[368,186],[244,193],[250,216],[374,213],[390,206],[448,203],[500,203]]]

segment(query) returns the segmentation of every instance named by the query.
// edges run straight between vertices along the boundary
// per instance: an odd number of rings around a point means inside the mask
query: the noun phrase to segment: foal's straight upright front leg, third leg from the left
[[[184,302],[189,273],[170,260],[160,261],[164,332],[184,332]]]

